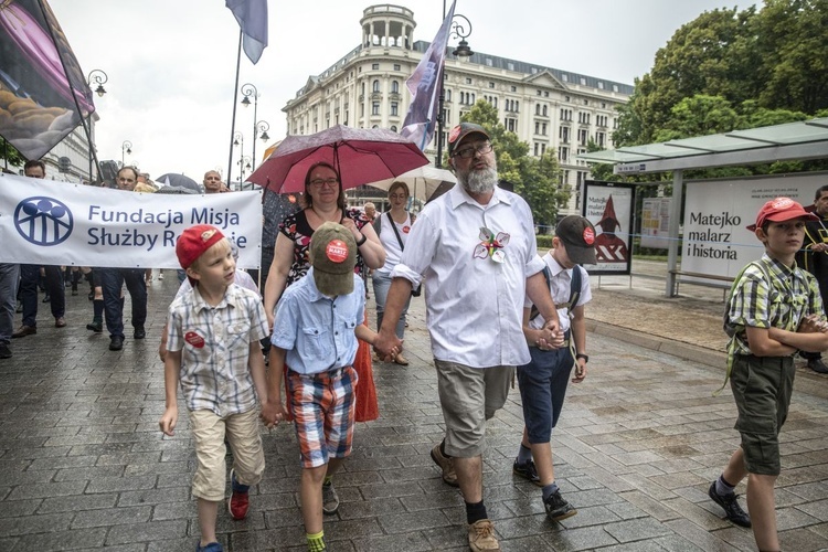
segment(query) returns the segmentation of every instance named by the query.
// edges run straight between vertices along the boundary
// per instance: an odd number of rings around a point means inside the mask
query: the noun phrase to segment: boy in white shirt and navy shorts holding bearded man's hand
[[[581,264],[595,264],[595,227],[583,216],[565,216],[555,227],[552,250],[543,256],[543,273],[558,307],[560,331],[554,341],[541,337],[543,317],[523,309],[523,335],[532,360],[518,367],[523,403],[523,439],[512,471],[542,488],[546,516],[560,521],[577,513],[555,484],[550,437],[558,425],[570,372],[573,383],[586,378],[586,327],[584,305],[592,299],[590,276]]]

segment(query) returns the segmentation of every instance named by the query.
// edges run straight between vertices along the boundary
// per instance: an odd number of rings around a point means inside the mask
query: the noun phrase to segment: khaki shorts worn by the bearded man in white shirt
[[[434,365],[446,422],[446,454],[460,458],[481,455],[486,421],[506,404],[514,367],[470,368],[437,359]]]

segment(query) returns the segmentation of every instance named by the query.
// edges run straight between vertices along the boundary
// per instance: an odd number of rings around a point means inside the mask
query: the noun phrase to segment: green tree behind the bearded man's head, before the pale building
[[[476,123],[489,132],[500,180],[512,184],[514,193],[527,200],[535,224],[554,226],[571,192],[567,185],[559,185],[560,167],[553,151],[548,150],[540,158],[529,156],[529,144],[507,130],[498,120],[497,108],[484,99],[471,106],[461,120]]]

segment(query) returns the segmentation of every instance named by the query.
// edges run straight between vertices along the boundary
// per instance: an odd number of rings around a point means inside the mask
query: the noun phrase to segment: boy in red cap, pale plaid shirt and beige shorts
[[[180,383],[199,460],[192,484],[201,529],[195,550],[221,552],[215,519],[226,485],[225,438],[233,450],[227,501],[233,519],[247,516],[250,486],[258,484],[265,469],[256,397],[261,403],[267,399],[258,343],[267,336],[267,317],[257,294],[234,285],[233,252],[217,229],[206,224],[187,229],[176,244],[176,254],[192,290],[170,305],[167,408],[158,424],[166,435],[173,434]]]

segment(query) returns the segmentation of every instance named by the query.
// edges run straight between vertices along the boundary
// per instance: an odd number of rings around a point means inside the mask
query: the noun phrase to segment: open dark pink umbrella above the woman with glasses
[[[337,169],[342,189],[428,164],[420,148],[396,132],[337,125],[309,136],[288,136],[247,180],[279,193],[304,192],[308,169],[320,161]]]

